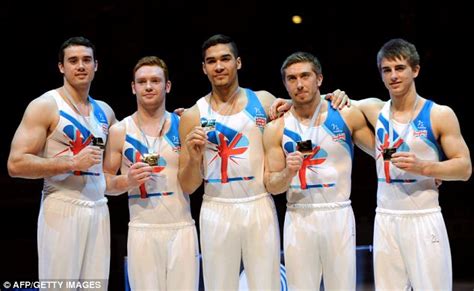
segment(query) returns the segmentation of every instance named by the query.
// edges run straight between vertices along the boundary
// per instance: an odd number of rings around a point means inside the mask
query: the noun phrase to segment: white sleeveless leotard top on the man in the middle
[[[255,93],[245,91],[247,102],[258,102]],[[253,94],[252,97],[249,94]],[[197,105],[201,119],[216,120],[218,134],[216,143],[208,141],[204,153],[203,175],[206,195],[243,198],[265,192],[262,129],[257,126],[254,117],[249,115],[247,108],[233,115],[220,115],[210,108],[209,102],[204,97],[198,100]],[[232,146],[233,143],[235,144]],[[219,150],[219,146],[241,152],[222,159],[220,154],[222,150]],[[225,162],[227,167],[224,166]],[[229,181],[222,182],[223,172],[227,173]]]

